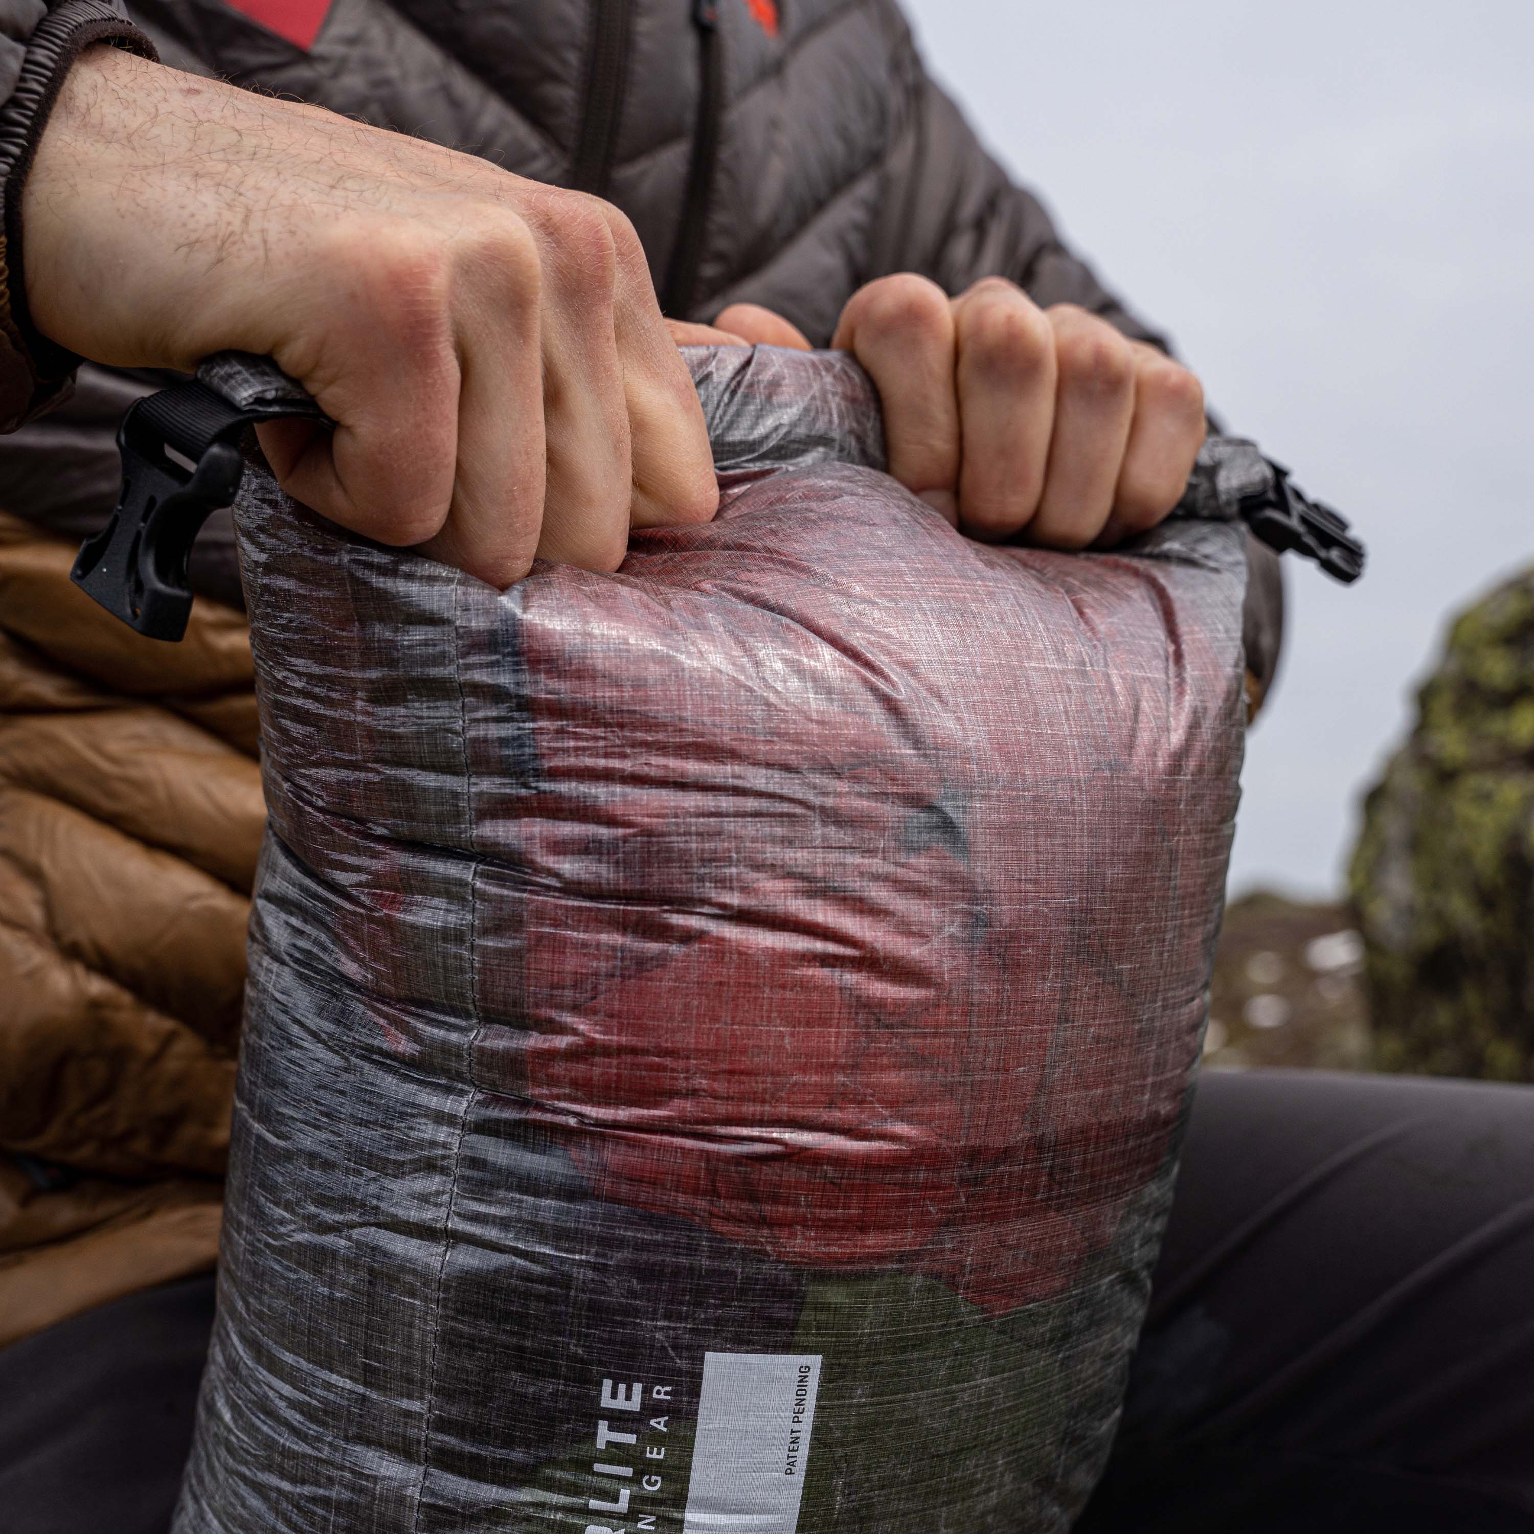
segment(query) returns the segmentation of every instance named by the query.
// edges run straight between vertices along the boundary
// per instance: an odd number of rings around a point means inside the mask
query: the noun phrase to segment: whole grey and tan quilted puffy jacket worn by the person
[[[78,359],[40,337],[26,308],[20,193],[83,46],[158,51],[176,67],[604,196],[634,221],[675,316],[752,301],[824,344],[859,285],[910,270],[951,293],[1005,275],[1040,304],[1081,304],[1157,339],[985,153],[923,72],[893,0],[127,9],[132,21],[110,0],[0,0],[0,426],[20,428],[0,437],[11,514],[0,534],[0,986],[46,991],[0,1012],[0,1149],[12,1152],[0,1160],[0,1341],[213,1261],[216,1220],[202,1218],[193,1239],[186,1212],[206,1215],[216,1198],[195,1180],[221,1164],[242,962],[229,934],[261,819],[253,741],[232,724],[250,718],[238,612],[204,601],[192,649],[144,649],[104,629],[63,575],[61,534],[78,538],[110,509],[112,433],[137,391],[87,367],[60,403]],[[202,589],[238,603],[227,549],[227,529],[221,542],[213,528]],[[1261,690],[1276,660],[1278,584],[1258,558],[1249,664]],[[23,588],[31,606],[17,618]],[[152,1150],[129,1132],[138,1121],[155,1126]],[[110,1149],[107,1123],[138,1149]],[[175,1259],[163,1241],[158,1256],[149,1250],[167,1220],[181,1221]],[[43,1276],[66,1272],[75,1276]]]

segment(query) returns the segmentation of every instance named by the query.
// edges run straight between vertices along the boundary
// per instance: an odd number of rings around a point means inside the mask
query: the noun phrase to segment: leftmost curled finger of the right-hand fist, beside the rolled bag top
[[[851,351],[879,390],[890,472],[957,522],[959,396],[948,295],[908,272],[879,278],[847,301],[831,345]]]

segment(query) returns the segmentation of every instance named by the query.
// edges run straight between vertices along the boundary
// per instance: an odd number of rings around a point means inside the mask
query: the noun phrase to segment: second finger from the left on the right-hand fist
[[[988,278],[954,301],[960,422],[959,520],[1005,538],[1032,518],[1054,426],[1054,330],[1012,282]]]

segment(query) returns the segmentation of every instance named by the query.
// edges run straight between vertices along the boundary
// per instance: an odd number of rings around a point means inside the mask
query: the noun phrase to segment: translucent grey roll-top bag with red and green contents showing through
[[[1114,1433],[1244,738],[1215,459],[988,548],[845,357],[505,594],[236,508],[270,804],[178,1534],[1031,1534]],[[1200,488],[1201,486],[1201,488]]]

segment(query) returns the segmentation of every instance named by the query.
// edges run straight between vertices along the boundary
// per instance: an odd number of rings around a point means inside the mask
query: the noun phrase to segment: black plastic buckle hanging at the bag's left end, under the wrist
[[[138,634],[175,641],[192,615],[192,545],[215,511],[233,505],[245,465],[230,442],[210,443],[195,463],[176,462],[164,433],[144,420],[149,403],[140,400],[123,417],[117,509],[81,545],[71,580]]]

